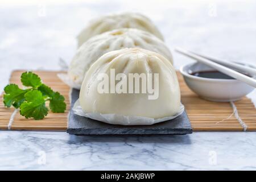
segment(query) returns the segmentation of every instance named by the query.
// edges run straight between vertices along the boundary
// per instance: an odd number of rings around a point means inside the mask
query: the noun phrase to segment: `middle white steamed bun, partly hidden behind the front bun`
[[[77,49],[69,66],[68,76],[77,85],[81,85],[90,65],[104,53],[133,47],[160,53],[172,63],[171,52],[162,40],[146,31],[121,28],[96,35]]]

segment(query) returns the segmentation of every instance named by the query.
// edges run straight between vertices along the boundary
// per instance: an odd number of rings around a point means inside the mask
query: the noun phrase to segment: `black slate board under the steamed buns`
[[[73,89],[71,93],[71,108],[78,98],[79,90]],[[185,111],[175,119],[154,125],[123,126],[110,125],[94,119],[81,117],[80,115],[74,114],[71,109],[68,118],[67,133],[75,135],[191,134],[192,127]]]

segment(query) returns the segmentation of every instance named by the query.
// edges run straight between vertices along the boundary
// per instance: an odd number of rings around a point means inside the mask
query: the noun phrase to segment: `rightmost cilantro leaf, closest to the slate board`
[[[54,92],[51,96],[49,107],[53,113],[64,113],[66,110],[65,98],[59,93]]]

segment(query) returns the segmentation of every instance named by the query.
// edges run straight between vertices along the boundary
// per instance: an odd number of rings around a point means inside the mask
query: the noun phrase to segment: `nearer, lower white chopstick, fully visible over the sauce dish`
[[[256,80],[254,80],[253,78],[251,78],[249,76],[243,75],[242,73],[234,71],[233,69],[225,67],[224,65],[214,63],[213,61],[205,59],[204,57],[196,55],[195,53],[189,52],[185,49],[175,48],[175,51],[177,51],[185,56],[191,57],[192,59],[195,59],[195,60],[199,61],[200,63],[204,63],[204,64],[208,65],[209,67],[217,69],[217,71],[220,71],[220,72],[222,72],[228,76],[231,76],[233,78],[236,78],[237,80],[246,82],[248,85],[251,85],[254,88],[256,88]]]

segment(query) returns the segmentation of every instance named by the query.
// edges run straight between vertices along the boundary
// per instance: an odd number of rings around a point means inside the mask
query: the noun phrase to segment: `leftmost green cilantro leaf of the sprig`
[[[15,108],[18,108],[24,102],[24,94],[27,90],[20,89],[16,84],[7,85],[4,90],[3,103],[6,107],[13,105]]]

